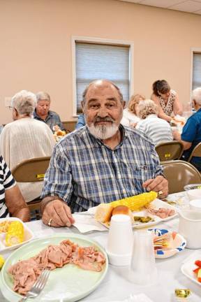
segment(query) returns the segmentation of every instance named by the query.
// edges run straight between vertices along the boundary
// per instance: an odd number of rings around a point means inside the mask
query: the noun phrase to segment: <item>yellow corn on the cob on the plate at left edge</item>
[[[13,221],[10,223],[8,227],[8,231],[6,233],[6,245],[16,245],[18,243],[22,243],[24,240],[24,227],[22,222]]]

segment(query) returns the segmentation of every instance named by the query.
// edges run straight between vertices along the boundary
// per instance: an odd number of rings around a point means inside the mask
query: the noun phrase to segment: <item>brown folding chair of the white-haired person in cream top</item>
[[[44,180],[45,172],[50,163],[50,157],[36,157],[26,159],[17,164],[11,171],[13,178],[17,182],[38,182]],[[36,213],[36,218],[40,219],[40,197],[29,201],[28,206],[30,212]],[[32,216],[33,218],[33,216]]]

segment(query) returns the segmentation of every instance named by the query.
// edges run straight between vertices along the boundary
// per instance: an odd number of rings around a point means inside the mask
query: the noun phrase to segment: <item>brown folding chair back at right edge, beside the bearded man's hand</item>
[[[169,182],[169,194],[184,191],[184,186],[200,183],[199,171],[188,161],[172,160],[162,161],[165,177]]]

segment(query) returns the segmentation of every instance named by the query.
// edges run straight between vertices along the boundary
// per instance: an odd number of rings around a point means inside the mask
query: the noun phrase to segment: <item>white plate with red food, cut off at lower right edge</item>
[[[193,282],[201,285],[201,252],[196,252],[181,266],[181,272]]]

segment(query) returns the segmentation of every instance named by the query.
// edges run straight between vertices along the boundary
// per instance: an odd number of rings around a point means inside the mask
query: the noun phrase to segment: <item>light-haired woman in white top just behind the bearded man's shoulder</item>
[[[142,94],[134,94],[128,101],[128,106],[124,109],[121,124],[123,126],[135,127],[136,123],[140,121],[140,117],[137,117],[137,107],[140,101],[143,101],[145,96]]]

